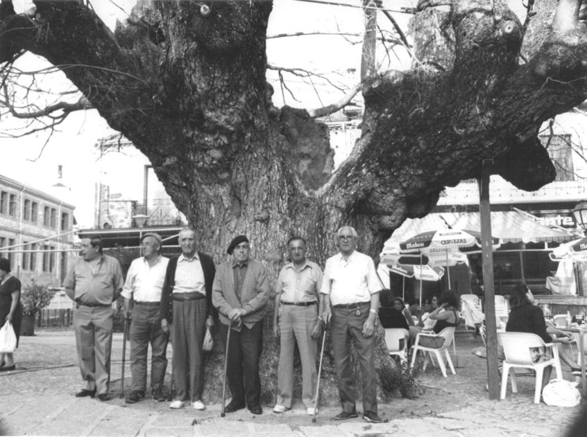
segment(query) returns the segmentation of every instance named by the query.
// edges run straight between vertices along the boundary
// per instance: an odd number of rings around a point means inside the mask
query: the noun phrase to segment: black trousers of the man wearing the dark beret
[[[228,325],[221,323],[220,330],[222,338],[226,339]],[[259,358],[262,348],[263,321],[256,322],[250,329],[243,324],[240,331],[230,331],[226,373],[232,402],[237,405],[244,405],[245,401],[249,408],[260,404]]]

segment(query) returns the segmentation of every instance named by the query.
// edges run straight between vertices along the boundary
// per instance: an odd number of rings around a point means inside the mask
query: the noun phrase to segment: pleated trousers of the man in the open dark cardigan
[[[204,386],[202,344],[206,331],[206,300],[173,301],[173,375],[176,400],[201,400]]]

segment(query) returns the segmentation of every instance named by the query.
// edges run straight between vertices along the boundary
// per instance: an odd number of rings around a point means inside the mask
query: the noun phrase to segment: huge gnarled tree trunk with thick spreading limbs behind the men
[[[271,103],[269,1],[203,8],[142,0],[113,35],[82,1],[36,1],[25,17],[2,0],[0,62],[32,51],[62,66],[110,126],[150,159],[201,249],[220,262],[228,242],[244,233],[274,279],[291,235],[303,235],[309,258],[323,263],[336,251],[342,224],[355,226],[359,250],[377,258],[406,217],[429,212],[445,186],[477,177],[482,159],[494,159],[495,172],[520,188],[554,179],[536,133],[586,97],[581,1],[536,1],[539,19],[527,28],[504,1],[454,0],[450,12],[436,3],[446,2],[420,1],[413,21],[414,69],[364,82],[363,135],[335,172],[325,125],[305,110]],[[520,63],[520,47],[529,62]],[[371,64],[363,67],[372,74]],[[270,320],[262,358],[267,403],[278,350]],[[383,374],[393,364],[381,332]],[[214,375],[207,381],[215,381],[210,401],[221,389],[216,340],[207,366]],[[337,402],[329,350],[325,369],[324,399]]]

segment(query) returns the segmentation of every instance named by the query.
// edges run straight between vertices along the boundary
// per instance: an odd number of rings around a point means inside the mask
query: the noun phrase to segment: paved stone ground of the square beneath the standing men
[[[337,408],[323,408],[316,423],[302,404],[282,415],[264,406],[261,416],[247,410],[220,417],[220,405],[206,411],[170,410],[167,402],[144,400],[128,405],[121,398],[99,402],[75,398],[80,388],[76,348],[71,331],[41,331],[22,337],[17,370],[0,373],[0,434],[42,436],[407,436],[563,437],[581,407],[563,409],[532,402],[534,379],[518,378],[518,394],[488,400],[486,362],[470,354],[480,340],[457,338],[457,375],[443,378],[429,366],[420,376],[423,393],[416,400],[380,404],[382,424],[360,419],[333,422]],[[119,387],[122,337],[112,345],[113,395]],[[128,352],[127,352],[128,353]],[[127,361],[128,362],[128,361]],[[126,368],[130,380],[130,368]],[[565,371],[565,377],[572,376]],[[169,378],[169,375],[167,376]],[[587,406],[587,400],[581,402]],[[360,408],[360,403],[357,403]],[[581,436],[587,436],[587,430]],[[574,436],[573,436],[574,437]]]

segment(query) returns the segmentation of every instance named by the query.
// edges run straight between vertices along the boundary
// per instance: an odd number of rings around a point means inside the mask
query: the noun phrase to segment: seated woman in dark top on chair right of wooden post
[[[531,332],[538,335],[545,343],[556,343],[559,350],[559,358],[561,362],[567,364],[573,373],[579,373],[581,369],[577,363],[572,359],[570,352],[570,343],[572,335],[566,334],[554,327],[554,325],[547,325],[544,320],[543,311],[534,305],[530,300],[528,286],[525,283],[517,283],[511,290],[509,298],[509,305],[511,310],[509,312],[509,319],[506,325],[506,331],[513,332]],[[552,337],[554,336],[554,337]],[[538,362],[545,354],[544,350],[534,350],[536,355],[536,362]],[[545,369],[545,377],[543,377],[543,385],[550,379],[550,366]],[[546,373],[548,374],[546,377]]]

